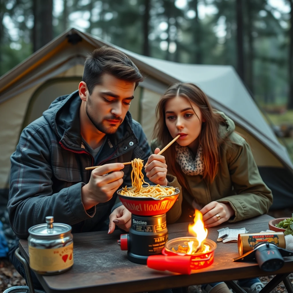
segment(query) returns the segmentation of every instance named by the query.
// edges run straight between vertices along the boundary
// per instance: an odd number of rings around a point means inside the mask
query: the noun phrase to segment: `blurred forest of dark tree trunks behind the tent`
[[[293,159],[293,0],[0,0],[0,76],[70,27],[139,54],[231,65]]]

